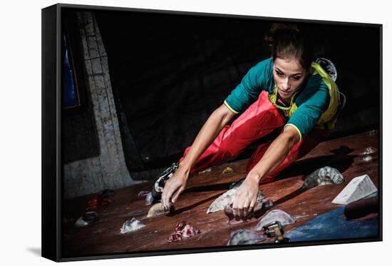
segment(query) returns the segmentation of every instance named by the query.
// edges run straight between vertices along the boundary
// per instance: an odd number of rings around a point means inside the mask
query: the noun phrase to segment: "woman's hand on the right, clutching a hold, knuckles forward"
[[[233,215],[236,218],[246,218],[252,213],[259,193],[259,180],[247,176],[244,183],[239,186],[232,200]]]

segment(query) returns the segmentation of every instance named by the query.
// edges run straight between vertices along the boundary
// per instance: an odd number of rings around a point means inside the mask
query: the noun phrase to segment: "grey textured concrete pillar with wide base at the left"
[[[95,17],[91,12],[80,12],[77,17],[86,70],[88,111],[64,118],[63,145],[66,146],[64,150],[71,152],[86,148],[85,142],[91,142],[93,156],[78,158],[64,165],[65,198],[139,183],[130,177],[125,166],[108,58]]]

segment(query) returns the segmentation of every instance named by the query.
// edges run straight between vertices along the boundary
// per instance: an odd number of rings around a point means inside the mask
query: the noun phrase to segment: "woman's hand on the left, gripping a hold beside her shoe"
[[[172,203],[175,203],[182,191],[184,191],[189,172],[189,170],[182,168],[180,164],[177,171],[166,181],[161,197],[164,210],[170,210]]]

